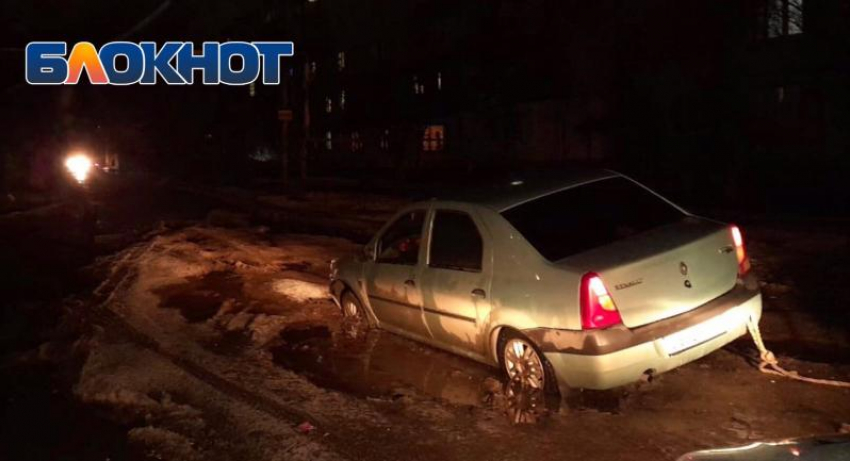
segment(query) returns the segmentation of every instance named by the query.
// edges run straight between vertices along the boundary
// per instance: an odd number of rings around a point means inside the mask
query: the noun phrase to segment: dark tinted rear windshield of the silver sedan
[[[602,179],[502,213],[550,261],[607,245],[685,217],[632,181]]]

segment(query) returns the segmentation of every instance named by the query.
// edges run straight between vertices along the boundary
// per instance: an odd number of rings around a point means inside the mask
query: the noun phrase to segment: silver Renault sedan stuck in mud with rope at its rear
[[[749,269],[736,226],[597,170],[406,206],[331,263],[330,291],[346,316],[563,394],[745,334],[762,310]]]

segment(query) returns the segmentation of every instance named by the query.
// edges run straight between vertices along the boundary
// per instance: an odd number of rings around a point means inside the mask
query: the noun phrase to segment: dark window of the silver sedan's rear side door
[[[430,267],[477,272],[483,256],[481,234],[468,214],[437,211],[431,231]]]

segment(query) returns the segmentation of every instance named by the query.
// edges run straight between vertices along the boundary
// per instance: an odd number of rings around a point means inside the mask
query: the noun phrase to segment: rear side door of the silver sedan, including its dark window
[[[425,325],[444,346],[480,354],[481,319],[490,312],[491,264],[484,233],[466,211],[436,209],[422,269]]]

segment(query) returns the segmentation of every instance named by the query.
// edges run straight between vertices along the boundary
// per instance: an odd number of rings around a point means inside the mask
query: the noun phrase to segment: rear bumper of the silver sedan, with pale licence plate
[[[747,282],[690,312],[640,328],[525,333],[540,347],[562,385],[609,389],[635,382],[648,370],[657,374],[684,365],[744,335],[749,319],[758,321],[762,311],[755,280]],[[711,333],[705,333],[709,329]],[[683,330],[679,338],[695,332],[693,345],[673,349],[670,336]]]

